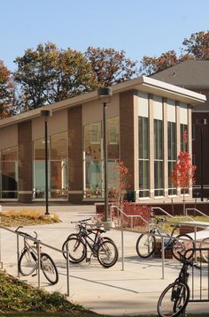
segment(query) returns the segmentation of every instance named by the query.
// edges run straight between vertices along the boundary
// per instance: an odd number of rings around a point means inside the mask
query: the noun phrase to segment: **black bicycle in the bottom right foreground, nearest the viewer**
[[[188,251],[187,251],[188,252]],[[160,317],[176,317],[184,311],[190,299],[190,287],[188,286],[190,267],[200,267],[192,260],[188,260],[185,254],[179,253],[182,268],[174,283],[169,284],[162,292],[158,301],[158,313]]]

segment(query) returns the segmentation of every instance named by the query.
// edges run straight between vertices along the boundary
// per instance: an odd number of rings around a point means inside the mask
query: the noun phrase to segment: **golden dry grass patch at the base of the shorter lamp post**
[[[3,226],[25,226],[44,223],[59,223],[58,215],[51,214],[50,216],[44,215],[43,210],[36,209],[19,209],[9,210],[0,214],[0,223]]]

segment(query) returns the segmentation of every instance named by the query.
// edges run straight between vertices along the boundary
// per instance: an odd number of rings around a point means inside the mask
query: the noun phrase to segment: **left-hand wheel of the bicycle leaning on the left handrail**
[[[34,273],[37,268],[37,255],[32,247],[23,250],[19,257],[18,268],[19,273],[24,276]]]

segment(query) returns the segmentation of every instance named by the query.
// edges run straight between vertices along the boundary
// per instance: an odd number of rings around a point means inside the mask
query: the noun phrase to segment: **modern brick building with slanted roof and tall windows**
[[[191,106],[205,95],[140,77],[112,87],[107,109],[108,168],[122,160],[139,201],[181,200],[170,174],[181,148],[191,154]],[[49,199],[102,200],[103,105],[97,91],[42,109],[49,119]],[[44,122],[41,109],[0,121],[0,200],[44,199]],[[188,131],[185,145],[182,131]],[[110,185],[111,186],[111,185]],[[187,192],[191,198],[191,188]]]

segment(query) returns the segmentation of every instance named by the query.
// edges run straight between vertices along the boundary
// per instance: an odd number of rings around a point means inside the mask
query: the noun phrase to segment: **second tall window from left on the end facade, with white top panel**
[[[162,98],[153,97],[154,117],[154,195],[164,195],[164,162],[163,162],[163,105]]]

